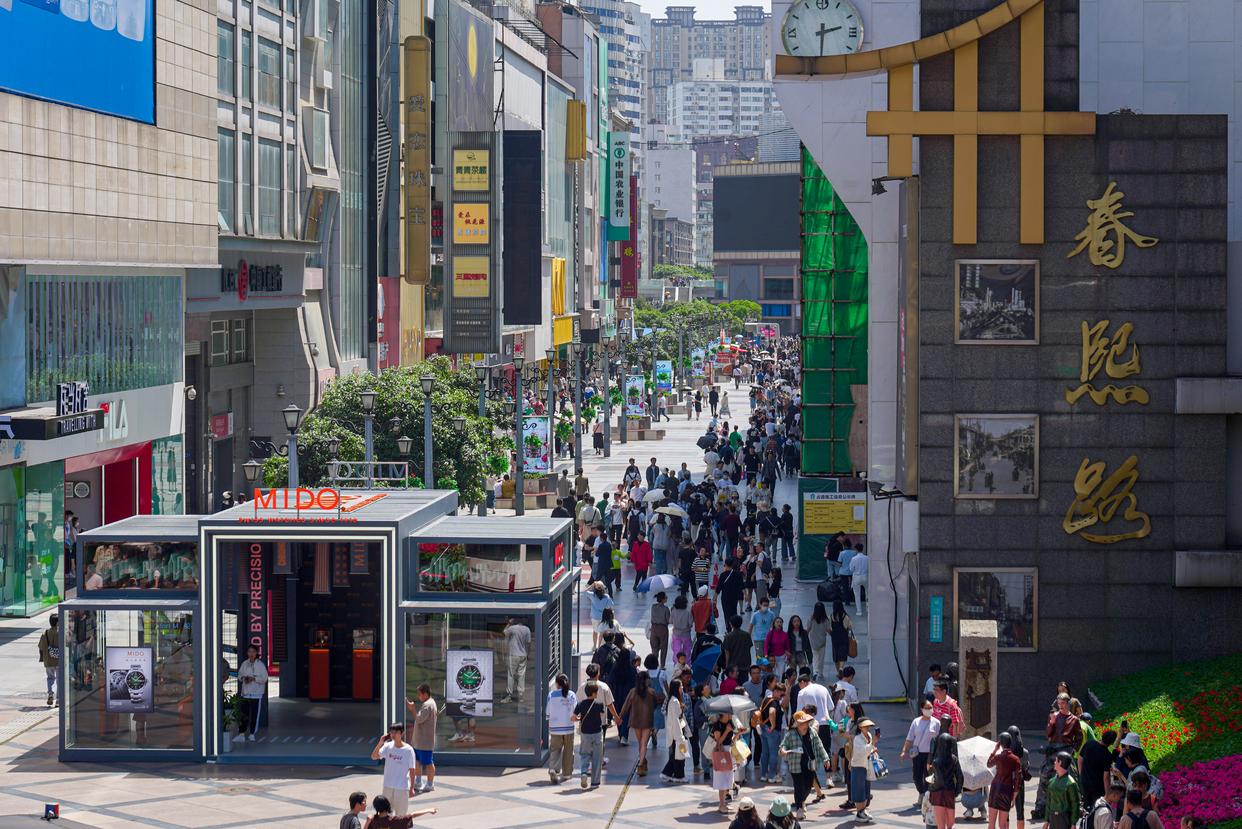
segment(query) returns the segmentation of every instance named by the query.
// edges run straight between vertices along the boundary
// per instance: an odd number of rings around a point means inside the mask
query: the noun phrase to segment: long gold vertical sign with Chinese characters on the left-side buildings
[[[431,41],[405,39],[405,278],[431,281]]]

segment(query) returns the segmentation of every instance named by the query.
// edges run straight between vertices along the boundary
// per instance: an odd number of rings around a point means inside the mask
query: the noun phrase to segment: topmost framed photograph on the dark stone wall
[[[1040,260],[959,259],[954,271],[959,346],[1040,344]]]

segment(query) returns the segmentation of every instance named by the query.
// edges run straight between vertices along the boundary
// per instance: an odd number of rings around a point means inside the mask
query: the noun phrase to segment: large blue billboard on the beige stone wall
[[[153,0],[0,0],[0,89],[154,123]]]

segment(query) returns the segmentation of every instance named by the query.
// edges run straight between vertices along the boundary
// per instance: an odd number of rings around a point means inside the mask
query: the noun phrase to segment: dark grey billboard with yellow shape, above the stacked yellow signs
[[[448,128],[496,128],[492,76],[494,26],[457,0],[448,2]],[[460,189],[460,188],[458,188]]]

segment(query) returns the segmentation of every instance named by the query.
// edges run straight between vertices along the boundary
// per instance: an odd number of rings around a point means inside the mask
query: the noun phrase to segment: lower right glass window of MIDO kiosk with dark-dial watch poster
[[[509,621],[529,631],[529,640]],[[544,721],[546,689],[539,674],[542,646],[535,614],[410,613],[406,615],[405,695],[420,685],[445,706],[440,752],[534,753]],[[450,742],[455,733],[473,741]]]

